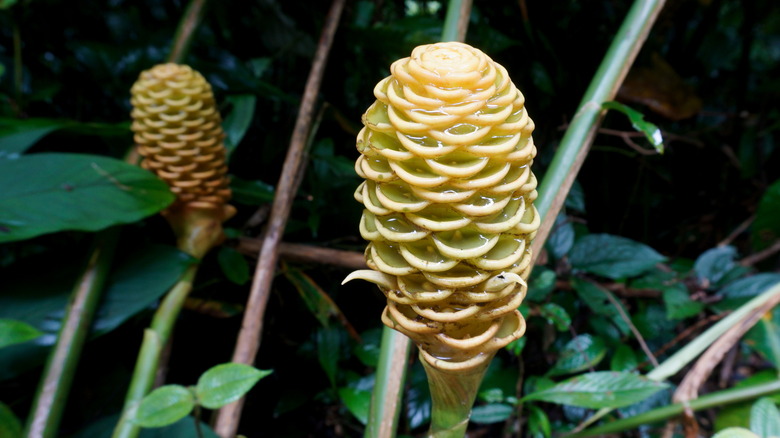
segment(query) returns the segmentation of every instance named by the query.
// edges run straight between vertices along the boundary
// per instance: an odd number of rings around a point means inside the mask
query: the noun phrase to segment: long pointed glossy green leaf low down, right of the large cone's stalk
[[[668,385],[633,373],[597,371],[523,397],[588,409],[619,408],[644,400]]]

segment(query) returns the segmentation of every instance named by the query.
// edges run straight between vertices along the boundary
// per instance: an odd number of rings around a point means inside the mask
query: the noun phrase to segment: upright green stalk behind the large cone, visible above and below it
[[[441,40],[463,41],[466,37],[466,27],[465,25],[459,27],[458,24],[463,21],[460,19],[461,16],[468,17],[470,14],[471,0],[449,0]],[[465,24],[468,24],[468,18]],[[374,391],[371,395],[371,408],[364,434],[365,438],[392,438],[395,436],[401,408],[401,390],[403,382],[406,380],[406,364],[409,361],[410,345],[411,342],[406,335],[389,327],[382,328],[382,344]],[[471,405],[469,404],[469,412],[470,409]],[[468,419],[468,417],[466,418]]]

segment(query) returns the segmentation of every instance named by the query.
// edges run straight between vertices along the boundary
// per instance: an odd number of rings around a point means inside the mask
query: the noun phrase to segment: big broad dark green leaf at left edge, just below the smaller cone
[[[34,154],[0,160],[0,242],[130,223],[174,195],[151,172],[113,158]]]

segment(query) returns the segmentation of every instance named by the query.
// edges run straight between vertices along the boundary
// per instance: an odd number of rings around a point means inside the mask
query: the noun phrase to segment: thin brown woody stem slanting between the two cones
[[[314,104],[317,100],[322,76],[325,73],[325,64],[341,18],[341,11],[344,9],[344,3],[345,0],[334,0],[325,19],[317,52],[314,55],[309,78],[306,81],[301,107],[298,110],[298,118],[290,139],[290,146],[287,149],[287,156],[282,167],[282,174],[276,184],[278,191],[274,197],[265,239],[258,255],[241,331],[236,342],[236,349],[233,352],[233,362],[252,364],[260,348],[263,315],[268,304],[271,282],[278,260],[279,242],[281,242],[295,197],[296,174],[304,154],[314,114]],[[243,404],[244,399],[242,398],[219,410],[215,421],[215,431],[219,436],[233,438],[236,435]]]

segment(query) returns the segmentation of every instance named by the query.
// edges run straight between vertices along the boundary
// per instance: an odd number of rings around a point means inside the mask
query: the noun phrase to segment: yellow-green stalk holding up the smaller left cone
[[[160,307],[152,319],[152,324],[144,331],[143,343],[133,370],[130,388],[125,397],[122,416],[114,428],[113,438],[134,438],[140,432],[140,427],[133,423],[132,419],[141,399],[152,389],[160,355],[170,339],[184,300],[192,290],[192,282],[198,271],[198,266],[198,264],[193,264],[184,271],[179,282],[173,286],[160,303]]]

